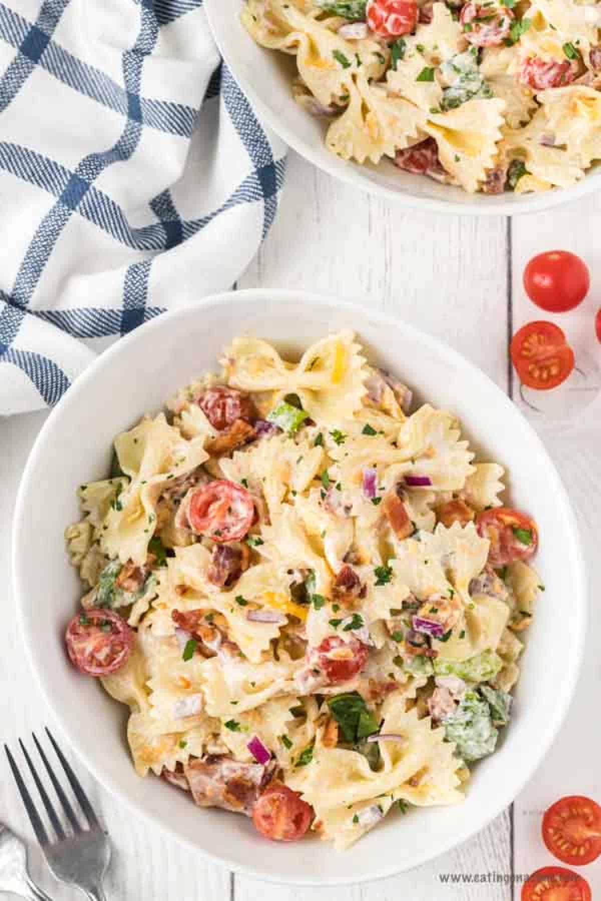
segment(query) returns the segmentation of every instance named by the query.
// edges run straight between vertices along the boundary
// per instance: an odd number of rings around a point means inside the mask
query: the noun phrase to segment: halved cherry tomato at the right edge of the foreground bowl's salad
[[[476,519],[478,535],[490,542],[488,562],[495,569],[513,560],[529,560],[538,547],[536,523],[511,507],[483,510]]]

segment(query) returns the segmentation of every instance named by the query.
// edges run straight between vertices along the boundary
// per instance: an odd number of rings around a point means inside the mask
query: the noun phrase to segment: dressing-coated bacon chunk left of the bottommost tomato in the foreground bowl
[[[192,796],[199,807],[223,807],[234,813],[252,815],[272,774],[259,763],[239,763],[225,755],[192,760],[184,768]]]

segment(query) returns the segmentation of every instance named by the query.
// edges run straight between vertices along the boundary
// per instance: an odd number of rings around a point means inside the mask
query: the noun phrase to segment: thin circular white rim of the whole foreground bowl
[[[442,854],[451,851],[464,842],[467,842],[474,835],[485,829],[487,825],[496,818],[496,816],[501,814],[506,809],[506,807],[513,802],[514,797],[519,794],[526,782],[528,782],[529,779],[533,777],[536,770],[541,766],[542,761],[544,760],[547,751],[551,747],[552,742],[560,732],[561,724],[563,724],[563,721],[568,714],[569,705],[578,682],[578,676],[583,659],[587,625],[587,574],[576,516],[569,501],[568,493],[561,481],[560,475],[555,467],[555,464],[551,460],[549,453],[544,447],[541,438],[534,431],[532,425],[525,419],[524,415],[521,413],[518,407],[516,407],[512,400],[505,394],[505,392],[496,385],[496,382],[492,378],[487,376],[486,372],[484,372],[482,369],[479,369],[478,366],[472,363],[469,359],[465,358],[462,354],[460,354],[458,350],[455,350],[444,341],[433,337],[433,335],[430,335],[427,332],[422,332],[420,329],[415,328],[413,325],[406,323],[405,320],[401,319],[400,317],[396,317],[379,310],[374,310],[373,308],[369,310],[369,315],[370,317],[372,317],[372,319],[379,321],[384,326],[394,325],[394,327],[396,328],[400,326],[415,341],[421,341],[423,345],[425,345],[429,350],[433,350],[435,353],[442,355],[444,359],[448,359],[450,363],[454,363],[460,366],[460,368],[467,370],[468,374],[470,373],[472,378],[479,378],[480,380],[487,382],[489,386],[492,386],[496,391],[496,394],[498,395],[499,405],[501,405],[505,409],[505,413],[508,412],[522,420],[523,427],[527,432],[530,432],[531,439],[538,446],[539,451],[542,453],[543,458],[547,462],[548,474],[555,481],[555,492],[557,496],[559,496],[560,503],[563,507],[563,512],[566,514],[569,520],[568,531],[571,536],[571,551],[573,553],[574,559],[574,597],[578,602],[575,605],[575,612],[578,617],[574,630],[575,653],[572,658],[573,662],[571,669],[569,669],[566,674],[566,678],[562,681],[560,687],[558,687],[558,703],[554,708],[553,718],[549,719],[546,732],[543,735],[539,736],[536,755],[533,755],[532,758],[532,760],[535,760],[535,762],[533,765],[531,764],[529,768],[523,770],[523,775],[521,776],[521,778],[517,779],[514,782],[514,787],[512,787],[512,789],[508,793],[508,796],[503,799],[503,802],[501,804],[495,805],[495,807],[487,813],[484,819],[478,821],[477,827],[474,828],[471,825],[466,825],[466,827],[458,831],[458,833],[454,833],[452,836],[450,835],[449,841],[442,843],[441,847],[437,850],[434,856],[424,849],[423,853],[419,856],[416,856],[415,860],[409,867],[398,869],[394,864],[391,864],[382,869],[379,869],[375,874],[374,872],[369,872],[366,873],[365,876],[361,876],[360,878],[345,876],[316,878],[311,874],[307,874],[306,878],[291,878],[287,877],[285,874],[278,874],[278,876],[274,874],[265,874],[264,872],[260,871],[260,869],[254,869],[253,867],[242,864],[237,860],[231,860],[228,857],[227,853],[224,853],[223,856],[217,856],[211,851],[205,851],[205,849],[201,849],[196,844],[196,842],[189,840],[185,835],[179,834],[167,821],[159,818],[158,815],[150,813],[147,808],[145,808],[143,805],[138,804],[136,801],[130,798],[122,790],[122,788],[116,784],[114,778],[110,775],[110,773],[105,772],[105,770],[102,768],[102,764],[96,764],[96,761],[92,760],[88,756],[87,752],[83,751],[80,748],[77,740],[77,733],[70,733],[67,731],[66,727],[63,726],[59,705],[55,704],[54,697],[52,696],[50,690],[50,685],[43,678],[40,661],[36,658],[33,643],[30,641],[29,626],[27,623],[28,614],[26,613],[27,605],[23,601],[23,598],[26,596],[24,587],[22,587],[23,571],[26,569],[26,554],[23,553],[23,549],[26,547],[26,533],[24,529],[26,498],[33,487],[32,485],[30,485],[30,482],[32,480],[32,473],[34,469],[36,469],[38,461],[46,450],[45,445],[47,436],[52,432],[54,423],[63,414],[63,410],[68,409],[68,406],[70,405],[70,398],[75,397],[76,394],[84,392],[86,390],[87,384],[94,378],[96,378],[96,375],[99,372],[102,372],[102,370],[110,367],[111,361],[115,356],[126,353],[127,349],[133,343],[144,341],[146,336],[151,331],[159,331],[166,320],[185,320],[190,316],[200,316],[202,312],[207,308],[222,305],[223,303],[228,303],[232,300],[236,301],[236,303],[243,303],[249,306],[253,306],[257,305],[260,300],[264,300],[266,295],[268,295],[271,299],[275,299],[276,301],[278,301],[279,298],[283,302],[292,302],[295,305],[303,305],[305,301],[308,301],[309,303],[314,305],[322,305],[324,307],[331,308],[333,307],[337,310],[346,310],[349,312],[349,314],[354,314],[355,321],[358,322],[360,322],[360,315],[365,314],[365,305],[360,305],[357,302],[350,302],[346,300],[342,301],[337,299],[335,296],[319,295],[314,294],[313,292],[306,292],[302,290],[271,290],[269,288],[250,288],[241,291],[224,291],[218,294],[205,296],[192,305],[178,307],[175,310],[171,310],[168,313],[161,314],[160,316],[155,317],[154,319],[150,320],[147,323],[144,323],[143,325],[135,329],[129,335],[124,336],[119,341],[115,341],[110,348],[99,354],[98,357],[71,385],[71,387],[69,387],[66,395],[61,398],[59,404],[51,411],[48,419],[42,425],[41,431],[38,433],[36,440],[33,443],[32,451],[30,452],[23,469],[23,476],[19,484],[15,502],[12,530],[11,556],[16,618],[19,633],[21,635],[24,646],[25,656],[29,662],[30,668],[32,669],[32,673],[36,680],[37,687],[41,692],[41,696],[48,706],[50,714],[52,714],[55,722],[59,725],[60,732],[67,740],[71,749],[76,752],[77,757],[83,761],[87,769],[94,776],[94,778],[96,778],[100,785],[104,787],[110,794],[116,796],[119,801],[127,806],[135,815],[140,816],[141,819],[146,823],[150,823],[153,826],[158,826],[159,829],[161,829],[164,833],[167,833],[172,839],[175,839],[178,842],[186,845],[190,850],[196,851],[196,853],[201,854],[206,860],[209,860],[218,866],[226,867],[233,872],[241,873],[250,878],[260,879],[269,883],[295,886],[325,887],[351,884],[359,885],[367,881],[373,881],[381,878],[390,878],[398,875],[401,872],[408,872],[411,869],[415,869],[418,866],[436,860],[437,858],[441,857]]]

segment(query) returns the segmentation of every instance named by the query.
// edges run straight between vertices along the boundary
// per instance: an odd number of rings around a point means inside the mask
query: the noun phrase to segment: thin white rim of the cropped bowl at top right
[[[363,179],[357,172],[358,164],[351,160],[347,161],[346,166],[337,168],[333,160],[336,159],[329,152],[318,152],[311,144],[308,144],[296,133],[287,127],[278,119],[278,116],[272,114],[269,106],[263,103],[260,95],[255,90],[250,81],[247,81],[241,75],[241,69],[235,58],[229,54],[224,47],[222,34],[218,27],[215,27],[217,20],[214,15],[214,9],[220,4],[220,0],[205,0],[205,12],[208,23],[213,33],[214,41],[221,53],[225,64],[230,69],[241,92],[250,101],[250,105],[254,107],[254,111],[258,118],[266,123],[269,128],[275,132],[282,141],[292,150],[296,150],[301,157],[308,159],[316,168],[323,169],[328,175],[338,178],[344,184],[351,185],[368,195],[374,195],[396,203],[409,209],[427,210],[430,213],[444,213],[447,215],[477,215],[477,216],[512,216],[512,215],[528,215],[531,213],[540,213],[542,210],[549,210],[555,206],[569,203],[571,200],[577,200],[578,197],[591,194],[595,190],[601,189],[601,170],[598,174],[595,172],[586,174],[582,181],[569,187],[555,187],[549,191],[541,191],[537,194],[528,195],[528,200],[517,202],[514,199],[505,196],[498,196],[494,203],[478,204],[467,201],[459,203],[455,200],[441,201],[434,200],[433,197],[421,197],[413,194],[405,194],[393,191],[391,188],[378,185],[376,182],[369,182]],[[268,52],[266,50],[266,52]],[[332,157],[332,160],[330,159]],[[598,184],[596,184],[598,182]],[[466,196],[469,194],[466,193]],[[513,197],[513,195],[512,195]]]

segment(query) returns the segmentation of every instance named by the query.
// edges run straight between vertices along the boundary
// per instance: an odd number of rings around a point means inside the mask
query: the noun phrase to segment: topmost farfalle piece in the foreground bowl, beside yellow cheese
[[[325,424],[352,416],[366,393],[365,359],[351,331],[316,341],[296,364],[285,362],[267,341],[256,338],[235,339],[225,355],[232,387],[273,391],[277,400],[296,394],[307,413]]]

